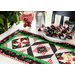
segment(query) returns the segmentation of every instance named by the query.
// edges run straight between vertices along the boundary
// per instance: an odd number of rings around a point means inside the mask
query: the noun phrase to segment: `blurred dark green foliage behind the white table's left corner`
[[[0,34],[7,31],[15,23],[18,25],[20,23],[19,16],[24,11],[0,11]]]

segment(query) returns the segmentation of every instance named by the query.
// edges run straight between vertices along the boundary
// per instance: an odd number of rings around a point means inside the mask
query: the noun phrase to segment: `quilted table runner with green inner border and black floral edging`
[[[70,53],[72,61],[64,60]],[[75,46],[69,43],[55,43],[43,36],[24,30],[17,30],[0,41],[0,54],[25,64],[74,64]]]

